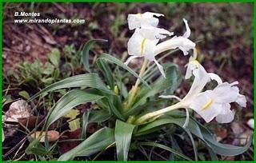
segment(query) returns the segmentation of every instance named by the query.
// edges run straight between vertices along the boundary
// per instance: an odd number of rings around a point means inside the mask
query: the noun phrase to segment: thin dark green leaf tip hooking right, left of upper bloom
[[[91,39],[90,41],[86,42],[85,46],[83,47],[82,50],[82,63],[83,66],[85,67],[85,69],[91,73],[90,71],[90,63],[89,63],[89,51],[91,46],[93,46],[93,44],[95,42],[107,42],[107,40],[104,39]]]

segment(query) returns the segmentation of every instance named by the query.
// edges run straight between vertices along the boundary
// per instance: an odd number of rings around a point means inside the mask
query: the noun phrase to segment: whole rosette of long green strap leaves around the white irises
[[[210,153],[211,160],[218,160],[218,155],[235,156],[244,153],[250,147],[252,137],[248,139],[244,146],[219,143],[209,129],[206,129],[204,125],[201,125],[192,117],[190,117],[186,128],[183,128],[182,125],[186,121],[186,113],[182,111],[167,113],[143,125],[133,125],[132,120],[134,117],[139,117],[141,114],[161,107],[162,102],[165,102],[165,100],[159,100],[159,93],[170,94],[178,88],[182,81],[180,70],[174,63],[166,63],[166,78],[158,77],[157,67],[154,66],[151,66],[151,70],[146,71],[146,74],[140,78],[134,70],[131,70],[122,61],[110,54],[100,55],[96,60],[97,69],[91,70],[89,51],[94,42],[105,42],[105,40],[90,40],[84,46],[82,62],[88,73],[55,82],[30,98],[31,101],[48,92],[58,89],[70,89],[50,109],[46,116],[44,130],[47,130],[54,121],[57,121],[58,118],[64,116],[78,105],[91,101],[98,105],[99,109],[89,109],[82,116],[82,143],[74,149],[63,153],[58,157],[58,161],[74,160],[75,157],[90,157],[92,155],[98,157],[98,155],[110,148],[116,149],[116,159],[118,161],[132,160],[133,156],[132,154],[129,155],[129,152],[141,151],[142,148],[166,150],[170,153],[170,160],[197,161],[200,143]],[[172,54],[172,52],[165,54],[162,58],[169,54]],[[114,69],[110,68],[110,64],[114,65]],[[119,68],[126,70],[128,74],[121,73]],[[124,78],[130,77],[129,75],[140,78],[142,85],[130,109],[124,112],[124,101],[129,97]],[[152,78],[156,79],[152,81]],[[94,122],[101,124],[99,126],[104,125],[104,127],[87,137],[86,127]],[[170,140],[168,141],[170,143],[163,141],[166,135],[169,136]],[[189,142],[186,145],[179,145],[180,141],[178,141],[177,137]],[[47,151],[50,151],[52,147],[49,146],[49,142],[45,142],[45,145],[41,145],[38,140],[31,141],[26,152],[43,151],[40,153],[41,155],[49,154]],[[184,146],[186,147],[185,149]],[[193,150],[193,154],[183,152],[186,151],[188,146]],[[149,152],[147,159],[151,159],[151,152]]]

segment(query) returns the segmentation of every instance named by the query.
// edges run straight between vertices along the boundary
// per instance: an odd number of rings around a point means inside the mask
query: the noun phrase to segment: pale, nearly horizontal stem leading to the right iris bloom
[[[134,124],[135,125],[142,125],[146,121],[150,120],[151,118],[159,117],[163,113],[170,112],[171,110],[179,109],[179,108],[183,108],[182,102],[178,102],[177,104],[170,105],[170,106],[168,106],[164,109],[159,109],[158,111],[154,111],[154,112],[151,112],[151,113],[146,113],[145,115],[143,115],[142,117],[139,117],[136,121],[134,121]]]

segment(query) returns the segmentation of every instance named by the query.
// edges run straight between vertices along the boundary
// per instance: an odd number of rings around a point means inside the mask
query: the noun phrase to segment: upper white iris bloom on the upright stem
[[[125,64],[128,65],[134,58],[144,57],[150,62],[155,62],[162,76],[166,78],[166,74],[162,66],[155,59],[155,56],[163,51],[176,48],[182,50],[183,54],[186,55],[188,54],[188,50],[194,49],[195,44],[188,39],[190,36],[190,28],[185,19],[183,19],[183,21],[186,25],[186,32],[183,36],[175,36],[166,42],[158,44],[160,39],[166,38],[166,35],[171,36],[174,33],[156,27],[158,26],[158,18],[154,18],[154,16],[159,17],[164,15],[150,12],[128,15],[129,29],[136,30],[128,41],[127,49],[131,57],[126,60]]]

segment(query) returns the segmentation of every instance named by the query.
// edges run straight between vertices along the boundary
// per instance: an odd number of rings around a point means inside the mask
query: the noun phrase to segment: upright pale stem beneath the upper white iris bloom
[[[142,68],[138,74],[138,76],[140,78],[142,78],[142,75],[144,74],[145,70],[146,70],[146,66],[147,63],[149,62],[149,60],[144,59],[144,62],[142,64]],[[124,111],[128,111],[130,109],[130,106],[132,105],[133,101],[134,101],[134,97],[138,91],[138,85],[140,84],[140,79],[138,78],[137,81],[135,82],[135,85],[133,85],[132,89],[130,89],[130,93],[129,93],[129,97],[128,97],[128,101],[127,101],[127,105],[125,107]]]

